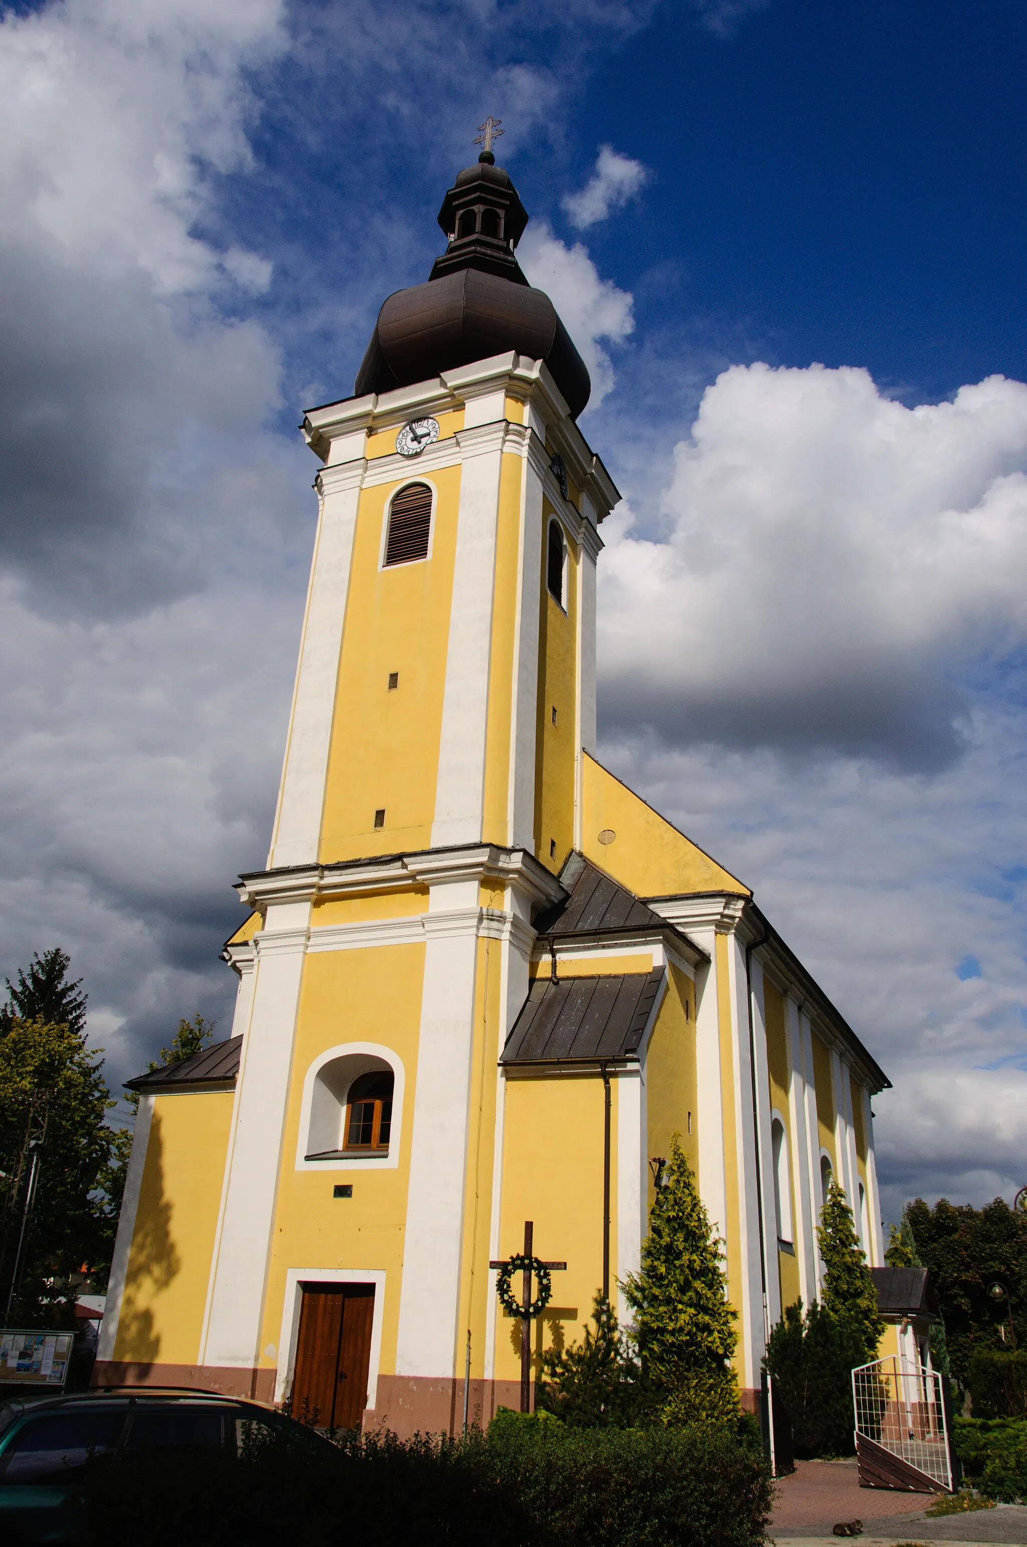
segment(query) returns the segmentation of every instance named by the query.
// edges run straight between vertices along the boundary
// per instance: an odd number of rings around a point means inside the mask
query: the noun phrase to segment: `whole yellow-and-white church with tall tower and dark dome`
[[[679,1135],[724,1239],[738,1385],[817,1293],[835,1176],[883,1264],[888,1080],[749,886],[597,760],[595,568],[619,493],[589,377],[489,149],[445,251],[311,408],[319,524],[227,1041],[135,1080],[94,1380],[459,1429],[518,1406],[495,1264],[566,1262],[582,1337],[639,1265]],[[639,619],[645,627],[645,619]],[[467,1392],[466,1371],[470,1372]]]

